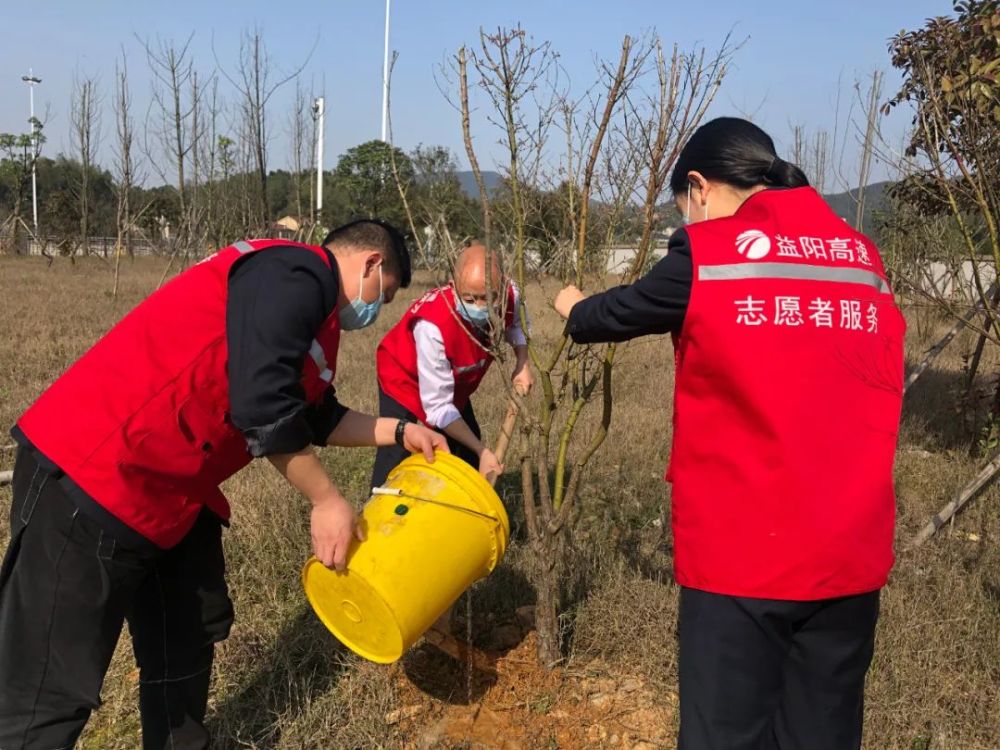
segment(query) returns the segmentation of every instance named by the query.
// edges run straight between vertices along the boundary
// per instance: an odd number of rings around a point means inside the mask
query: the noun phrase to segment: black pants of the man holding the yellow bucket
[[[213,644],[229,634],[220,520],[168,551],[129,549],[20,451],[0,569],[0,748],[72,747],[127,621],[144,748],[204,748]]]

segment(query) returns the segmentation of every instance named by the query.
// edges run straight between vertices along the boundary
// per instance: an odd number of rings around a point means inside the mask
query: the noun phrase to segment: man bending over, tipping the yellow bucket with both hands
[[[322,246],[240,240],[153,292],[21,416],[0,747],[74,746],[126,620],[142,746],[209,746],[214,644],[233,622],[219,485],[267,458],[310,501],[316,557],[343,569],[362,532],[312,446],[448,450],[332,387],[341,331],[370,325],[409,282],[403,237],[383,222]]]

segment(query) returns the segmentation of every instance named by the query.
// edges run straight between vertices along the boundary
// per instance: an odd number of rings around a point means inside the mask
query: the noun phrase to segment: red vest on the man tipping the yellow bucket
[[[179,542],[205,505],[229,517],[218,485],[250,462],[228,413],[229,271],[275,246],[306,248],[330,266],[322,248],[283,240],[224,248],[153,292],[18,421],[91,498],[160,547]],[[335,310],[304,359],[310,401],[333,379],[339,342]]]

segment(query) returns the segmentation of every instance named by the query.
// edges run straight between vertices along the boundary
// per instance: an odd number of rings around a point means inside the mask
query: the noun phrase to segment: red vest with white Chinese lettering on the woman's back
[[[811,188],[687,227],[668,480],[678,583],[768,599],[893,564],[905,321],[875,245]]]

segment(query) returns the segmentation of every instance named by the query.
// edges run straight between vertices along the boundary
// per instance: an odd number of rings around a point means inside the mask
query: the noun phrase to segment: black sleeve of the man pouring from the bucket
[[[226,336],[233,424],[253,456],[323,445],[346,409],[331,388],[310,405],[302,364],[337,304],[335,272],[310,250],[275,247],[248,255],[229,273]]]

